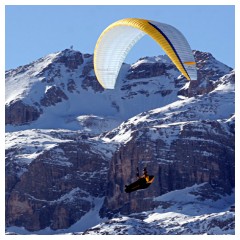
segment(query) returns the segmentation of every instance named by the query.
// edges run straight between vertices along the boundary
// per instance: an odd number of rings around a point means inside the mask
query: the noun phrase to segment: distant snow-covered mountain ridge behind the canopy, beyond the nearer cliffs
[[[201,68],[194,89],[200,93],[203,85],[206,91],[231,70],[210,54],[195,51],[195,57],[200,59]],[[100,122],[101,118],[109,119],[112,128],[138,113],[175,102],[179,91],[188,95],[184,89],[189,89],[189,83],[166,56],[124,64],[114,91],[103,90],[96,81],[92,61],[92,55],[66,49],[7,71],[7,130],[78,130],[85,126],[86,118],[79,118],[82,115],[96,116]],[[208,70],[213,79],[207,75]]]

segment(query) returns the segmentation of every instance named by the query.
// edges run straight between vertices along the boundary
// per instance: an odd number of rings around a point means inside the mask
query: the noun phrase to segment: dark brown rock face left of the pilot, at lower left
[[[91,210],[93,198],[105,196],[109,159],[94,151],[94,142],[80,141],[73,133],[66,135],[58,146],[39,149],[30,164],[28,149],[8,149],[7,156],[14,155],[16,160],[6,160],[7,225],[30,231],[68,228]],[[22,153],[29,158],[24,165],[17,161]]]

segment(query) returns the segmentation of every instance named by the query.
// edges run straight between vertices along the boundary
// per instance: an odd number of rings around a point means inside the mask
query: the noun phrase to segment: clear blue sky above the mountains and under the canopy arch
[[[73,45],[93,53],[101,32],[111,23],[138,17],[178,28],[192,49],[211,52],[219,61],[235,66],[234,5],[172,6],[5,6],[5,69],[28,64]],[[163,54],[145,36],[129,53],[126,62]]]

